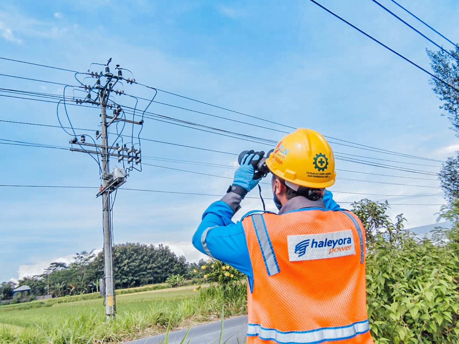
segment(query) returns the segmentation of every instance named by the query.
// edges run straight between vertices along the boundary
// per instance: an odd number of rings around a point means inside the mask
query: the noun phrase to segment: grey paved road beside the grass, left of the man
[[[190,339],[190,344],[218,344],[220,338],[220,321],[208,322],[202,325],[196,325],[191,327],[190,333],[188,333],[187,339],[184,343]],[[169,344],[179,344],[180,341],[185,337],[185,333],[188,329],[169,332]],[[228,341],[226,344],[242,344],[246,342],[246,331],[247,331],[247,316],[235,316],[233,318],[226,319],[223,323],[223,340]],[[153,337],[146,337],[136,339],[131,342],[125,342],[123,344],[160,344],[164,340],[165,334],[158,334]]]

